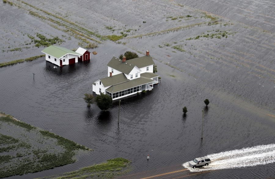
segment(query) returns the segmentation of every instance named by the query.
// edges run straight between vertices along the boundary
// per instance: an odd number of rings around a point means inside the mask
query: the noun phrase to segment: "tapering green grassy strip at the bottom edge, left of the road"
[[[50,176],[49,178],[114,178],[130,171],[130,161],[124,158],[107,160],[105,163],[83,167],[79,170]]]

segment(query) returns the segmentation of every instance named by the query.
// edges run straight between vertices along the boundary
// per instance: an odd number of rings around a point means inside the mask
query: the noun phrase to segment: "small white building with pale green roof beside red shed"
[[[41,51],[46,54],[46,61],[57,66],[70,65],[78,62],[80,54],[64,47],[51,45]]]

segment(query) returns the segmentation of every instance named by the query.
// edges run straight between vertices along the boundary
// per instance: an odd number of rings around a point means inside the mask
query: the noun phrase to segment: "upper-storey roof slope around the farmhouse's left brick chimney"
[[[119,61],[120,60],[120,61]],[[113,69],[116,69],[122,73],[129,74],[135,67],[133,64],[128,63],[128,60],[122,63],[122,60],[116,57],[113,57],[107,66],[110,66]]]

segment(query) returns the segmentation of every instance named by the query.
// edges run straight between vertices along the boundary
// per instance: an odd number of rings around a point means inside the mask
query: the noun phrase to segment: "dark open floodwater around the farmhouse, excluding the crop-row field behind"
[[[118,102],[107,112],[96,105],[87,108],[84,93],[92,93],[92,83],[107,76],[109,59],[124,50],[104,45],[97,49],[98,54],[92,56],[90,63],[62,69],[53,68],[44,58],[0,69],[1,111],[94,149],[79,156],[74,164],[12,178],[59,174],[115,157],[132,160],[130,174],[134,175],[125,178],[141,178],[184,169],[182,164],[195,157],[274,144],[274,111],[257,105],[264,99],[259,103],[246,101],[157,61],[161,82],[145,95],[122,99],[119,126]],[[236,78],[232,80],[234,85],[239,84]],[[269,97],[272,104],[274,94]],[[205,98],[210,101],[207,109]],[[186,116],[183,106],[188,109]],[[274,177],[274,149],[271,161],[189,177]]]

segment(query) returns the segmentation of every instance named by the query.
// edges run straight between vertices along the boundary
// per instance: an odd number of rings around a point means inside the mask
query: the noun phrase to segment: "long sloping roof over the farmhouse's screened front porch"
[[[149,78],[140,77],[140,78],[137,78],[134,80],[124,82],[124,83],[113,85],[113,86],[107,88],[105,91],[108,91],[110,93],[116,93],[116,92],[123,91],[123,90],[129,89],[129,88],[134,88],[134,87],[142,85],[142,84],[147,84],[147,83],[150,83],[153,81],[154,80],[151,80]]]

